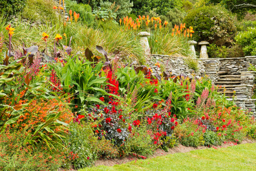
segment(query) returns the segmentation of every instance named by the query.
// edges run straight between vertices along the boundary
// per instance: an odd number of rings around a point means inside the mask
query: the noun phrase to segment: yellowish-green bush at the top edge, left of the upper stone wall
[[[55,5],[53,0],[27,0],[27,5],[24,8],[23,17],[36,21],[46,22],[46,20],[56,20],[57,14],[53,9]]]

